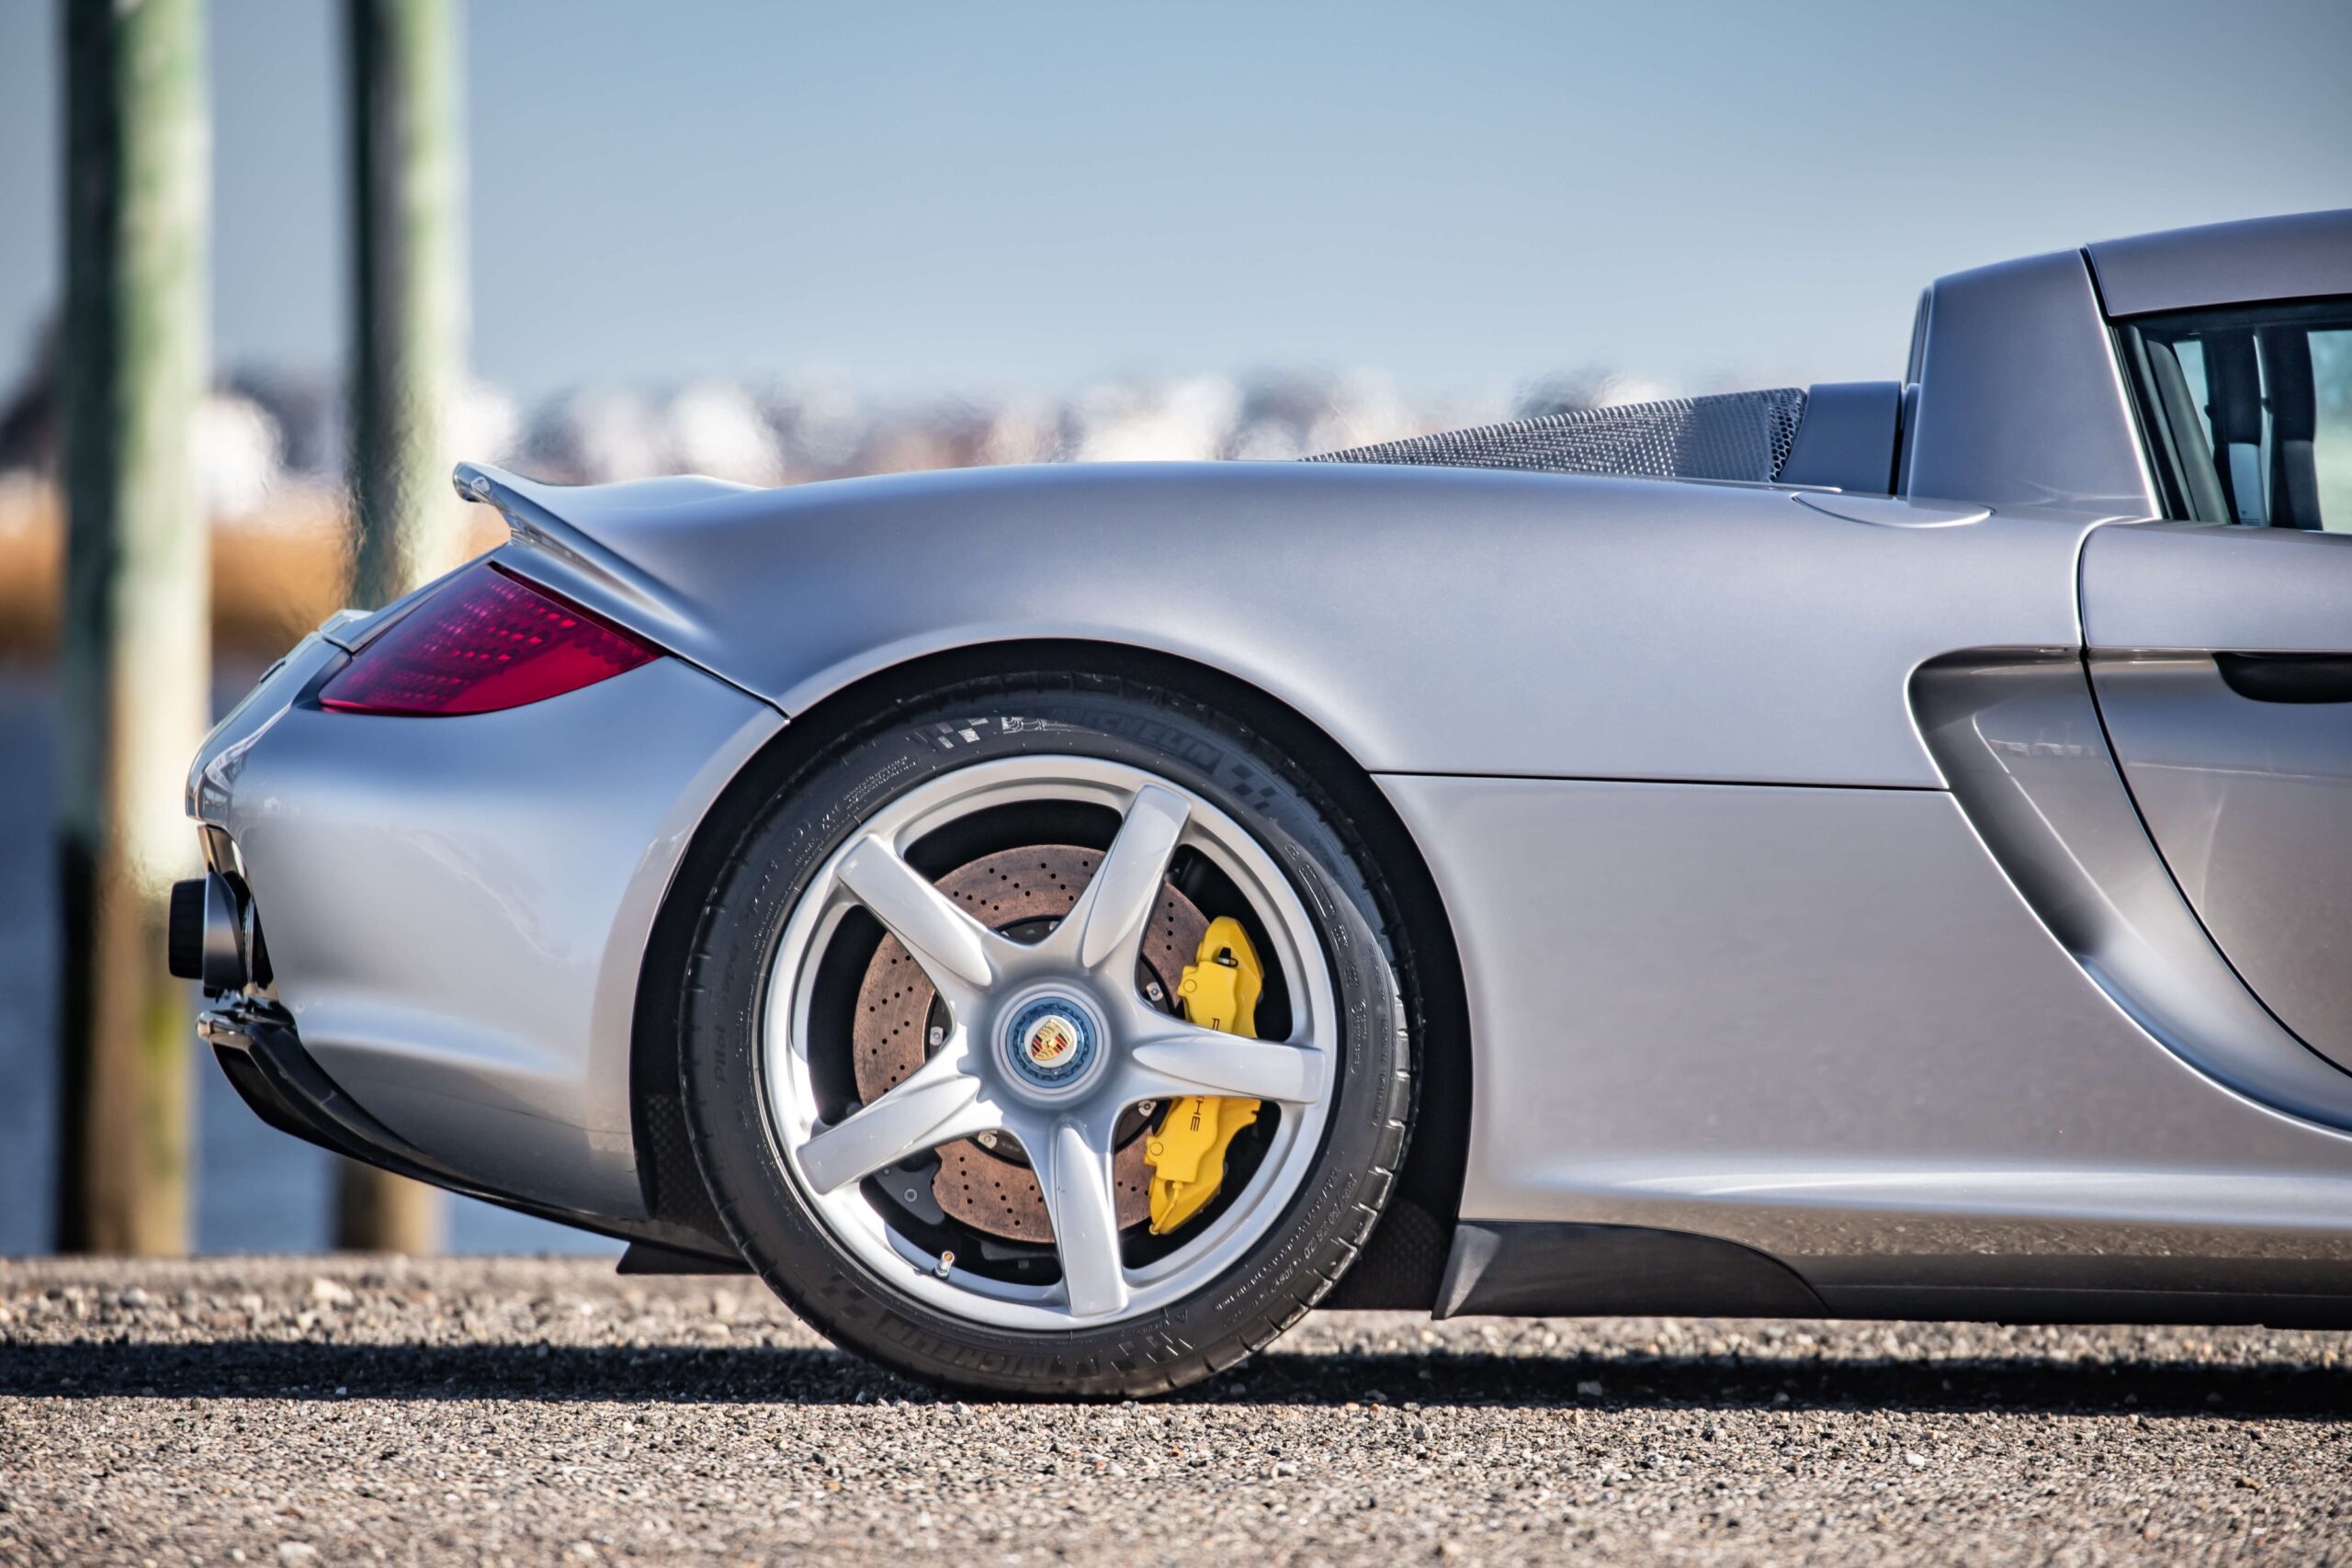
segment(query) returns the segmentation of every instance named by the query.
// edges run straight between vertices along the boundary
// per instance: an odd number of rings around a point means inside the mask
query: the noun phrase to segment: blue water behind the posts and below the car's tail
[[[223,675],[226,710],[261,675]],[[56,788],[56,686],[49,672],[0,665],[0,1255],[52,1244],[56,1192],[56,877],[49,806]],[[329,1244],[334,1157],[261,1124],[195,1039],[195,1246],[205,1253],[313,1253]],[[454,1253],[619,1253],[621,1244],[473,1199],[447,1199]]]

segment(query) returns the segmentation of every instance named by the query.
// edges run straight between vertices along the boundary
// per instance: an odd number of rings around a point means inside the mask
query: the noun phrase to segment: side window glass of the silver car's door
[[[2124,322],[2176,517],[2352,534],[2352,303]]]

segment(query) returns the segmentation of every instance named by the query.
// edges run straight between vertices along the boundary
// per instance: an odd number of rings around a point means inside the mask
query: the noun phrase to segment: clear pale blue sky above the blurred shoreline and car
[[[214,0],[216,360],[341,346],[327,0]],[[0,0],[0,386],[59,287]],[[1896,376],[1922,282],[2352,205],[2352,5],[473,0],[473,360],[873,390]]]

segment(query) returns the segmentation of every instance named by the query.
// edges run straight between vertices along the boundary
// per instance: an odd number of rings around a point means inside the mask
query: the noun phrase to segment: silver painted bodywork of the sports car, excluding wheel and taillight
[[[1863,1314],[2352,1295],[2352,853],[2324,830],[2352,705],[2213,675],[2352,651],[2352,541],[2157,522],[2107,317],[2352,294],[2340,214],[2230,228],[1938,282],[1896,496],[468,468],[503,567],[673,658],[372,719],[296,701],[343,658],[310,642],[207,743],[195,811],[358,1100],[630,1220],[644,943],[743,762],[924,654],[1148,649],[1287,703],[1418,846],[1470,1001],[1463,1220],[1717,1237]],[[1171,588],[1171,538],[1232,567],[1214,592]]]

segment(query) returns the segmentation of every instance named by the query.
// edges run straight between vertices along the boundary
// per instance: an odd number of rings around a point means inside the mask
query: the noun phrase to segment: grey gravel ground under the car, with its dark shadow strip
[[[0,1563],[2352,1563],[2340,1335],[1317,1314],[960,1403],[750,1281],[0,1260]]]

